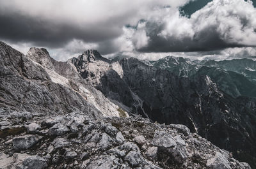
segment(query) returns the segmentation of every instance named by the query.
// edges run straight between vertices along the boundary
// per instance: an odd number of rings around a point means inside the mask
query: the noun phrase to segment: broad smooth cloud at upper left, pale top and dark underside
[[[102,42],[122,35],[157,6],[178,8],[189,0],[0,0],[0,37],[61,47],[70,40]]]

